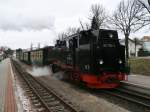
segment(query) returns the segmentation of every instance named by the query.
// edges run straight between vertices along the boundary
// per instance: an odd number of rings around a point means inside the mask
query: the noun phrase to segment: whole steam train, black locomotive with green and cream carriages
[[[28,63],[51,65],[53,72],[90,88],[116,88],[127,79],[125,47],[114,30],[86,30],[57,40],[55,46],[22,52],[17,58]]]

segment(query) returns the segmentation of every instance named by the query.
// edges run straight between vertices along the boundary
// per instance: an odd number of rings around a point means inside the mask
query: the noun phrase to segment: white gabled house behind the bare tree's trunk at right
[[[142,42],[139,40],[132,40],[129,38],[128,40],[129,44],[129,57],[137,57],[138,56],[138,51],[140,48],[142,48]],[[121,45],[125,45],[125,39],[120,40]]]

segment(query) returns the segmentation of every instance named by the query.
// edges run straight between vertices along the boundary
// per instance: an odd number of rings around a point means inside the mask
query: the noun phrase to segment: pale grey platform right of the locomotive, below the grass
[[[133,83],[142,87],[150,88],[150,76],[131,74],[128,76],[127,82]]]

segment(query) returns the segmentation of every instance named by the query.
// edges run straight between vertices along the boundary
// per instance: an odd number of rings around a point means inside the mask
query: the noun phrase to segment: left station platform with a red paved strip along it
[[[0,112],[17,112],[10,59],[0,62]]]

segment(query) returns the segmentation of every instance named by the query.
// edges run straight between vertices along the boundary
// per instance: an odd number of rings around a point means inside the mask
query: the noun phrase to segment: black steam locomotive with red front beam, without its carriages
[[[52,63],[54,72],[58,68],[64,70],[66,79],[90,88],[115,88],[126,80],[125,47],[120,45],[117,31],[88,30],[68,38],[65,62],[57,58]],[[61,56],[62,52],[59,53]]]

